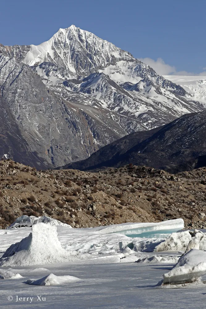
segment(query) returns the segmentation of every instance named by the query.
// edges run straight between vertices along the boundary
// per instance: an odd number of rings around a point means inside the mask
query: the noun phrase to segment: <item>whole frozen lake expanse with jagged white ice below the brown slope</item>
[[[87,229],[38,223],[32,228],[0,230],[0,256],[7,252],[6,257],[0,258],[0,275],[10,277],[0,279],[0,306],[3,309],[205,308],[206,285],[201,282],[185,288],[156,286],[162,275],[172,269],[174,264],[170,261],[176,263],[184,251],[151,251],[164,242],[159,236],[168,236],[182,227],[183,222],[178,219]],[[141,237],[132,238],[132,232]],[[184,233],[185,240],[181,241],[176,238],[177,233],[172,234],[170,245],[188,243],[191,236],[188,238]],[[41,265],[40,260],[44,261]],[[54,264],[53,260],[58,262]],[[48,275],[52,278],[50,286],[25,284],[45,282]],[[53,278],[56,285],[52,285]],[[62,284],[61,280],[67,278],[71,281]]]

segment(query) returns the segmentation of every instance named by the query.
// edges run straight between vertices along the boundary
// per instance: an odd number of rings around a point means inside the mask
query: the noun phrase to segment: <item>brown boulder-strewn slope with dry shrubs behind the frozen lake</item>
[[[132,164],[100,172],[37,171],[10,159],[0,161],[0,226],[23,214],[60,220],[73,227],[183,218],[202,228],[206,169],[171,175]]]

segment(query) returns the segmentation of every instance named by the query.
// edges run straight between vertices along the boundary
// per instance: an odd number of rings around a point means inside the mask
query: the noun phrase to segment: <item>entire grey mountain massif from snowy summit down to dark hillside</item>
[[[73,25],[38,46],[0,44],[0,87],[29,152],[20,162],[35,154],[37,168],[85,159],[129,133],[205,108],[127,51]],[[6,155],[14,158],[15,147]]]

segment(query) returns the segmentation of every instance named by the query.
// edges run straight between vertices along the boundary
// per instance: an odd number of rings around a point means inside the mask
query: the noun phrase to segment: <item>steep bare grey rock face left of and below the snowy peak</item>
[[[99,142],[112,140],[111,132],[102,123],[94,123],[89,115],[49,91],[40,76],[22,62],[1,56],[0,72],[2,99],[12,115],[10,122],[21,132],[27,151],[36,153],[44,167],[90,155],[98,149],[94,144],[96,136]],[[14,157],[15,151],[5,152],[2,148],[0,155]],[[27,162],[27,158],[23,156],[19,161]],[[35,166],[42,168],[42,164]]]

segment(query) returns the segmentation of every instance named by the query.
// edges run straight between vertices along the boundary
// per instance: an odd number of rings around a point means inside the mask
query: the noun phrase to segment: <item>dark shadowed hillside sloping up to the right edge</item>
[[[58,168],[95,170],[125,164],[147,165],[171,173],[206,165],[206,112],[184,115],[146,132],[121,138],[88,159]]]

